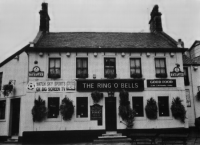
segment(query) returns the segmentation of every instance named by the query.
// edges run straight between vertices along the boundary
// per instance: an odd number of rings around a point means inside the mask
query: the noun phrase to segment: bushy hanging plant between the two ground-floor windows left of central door
[[[62,104],[60,105],[60,113],[63,116],[63,120],[71,120],[74,114],[74,105],[73,101],[69,98],[65,97],[62,100]]]

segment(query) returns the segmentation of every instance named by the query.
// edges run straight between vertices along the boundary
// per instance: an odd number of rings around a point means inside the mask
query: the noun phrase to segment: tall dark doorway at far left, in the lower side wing
[[[19,117],[20,117],[20,98],[11,100],[11,108],[10,108],[10,131],[11,135],[19,134]]]

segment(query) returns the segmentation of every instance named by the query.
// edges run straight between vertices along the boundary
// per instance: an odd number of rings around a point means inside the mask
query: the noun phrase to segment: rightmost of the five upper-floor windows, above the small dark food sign
[[[166,78],[166,62],[165,58],[155,58],[156,77]]]

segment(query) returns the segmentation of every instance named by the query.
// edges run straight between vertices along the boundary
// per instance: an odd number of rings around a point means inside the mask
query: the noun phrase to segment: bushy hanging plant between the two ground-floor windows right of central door
[[[146,111],[147,118],[149,118],[150,120],[157,119],[158,107],[156,105],[156,101],[153,98],[150,98],[149,100],[147,100],[145,111]]]

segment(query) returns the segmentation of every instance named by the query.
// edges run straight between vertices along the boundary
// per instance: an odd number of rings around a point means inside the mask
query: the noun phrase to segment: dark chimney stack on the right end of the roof
[[[149,21],[150,24],[150,31],[151,32],[162,32],[162,19],[161,19],[161,13],[158,11],[158,5],[155,5],[153,7],[153,10],[151,11],[151,20]]]

